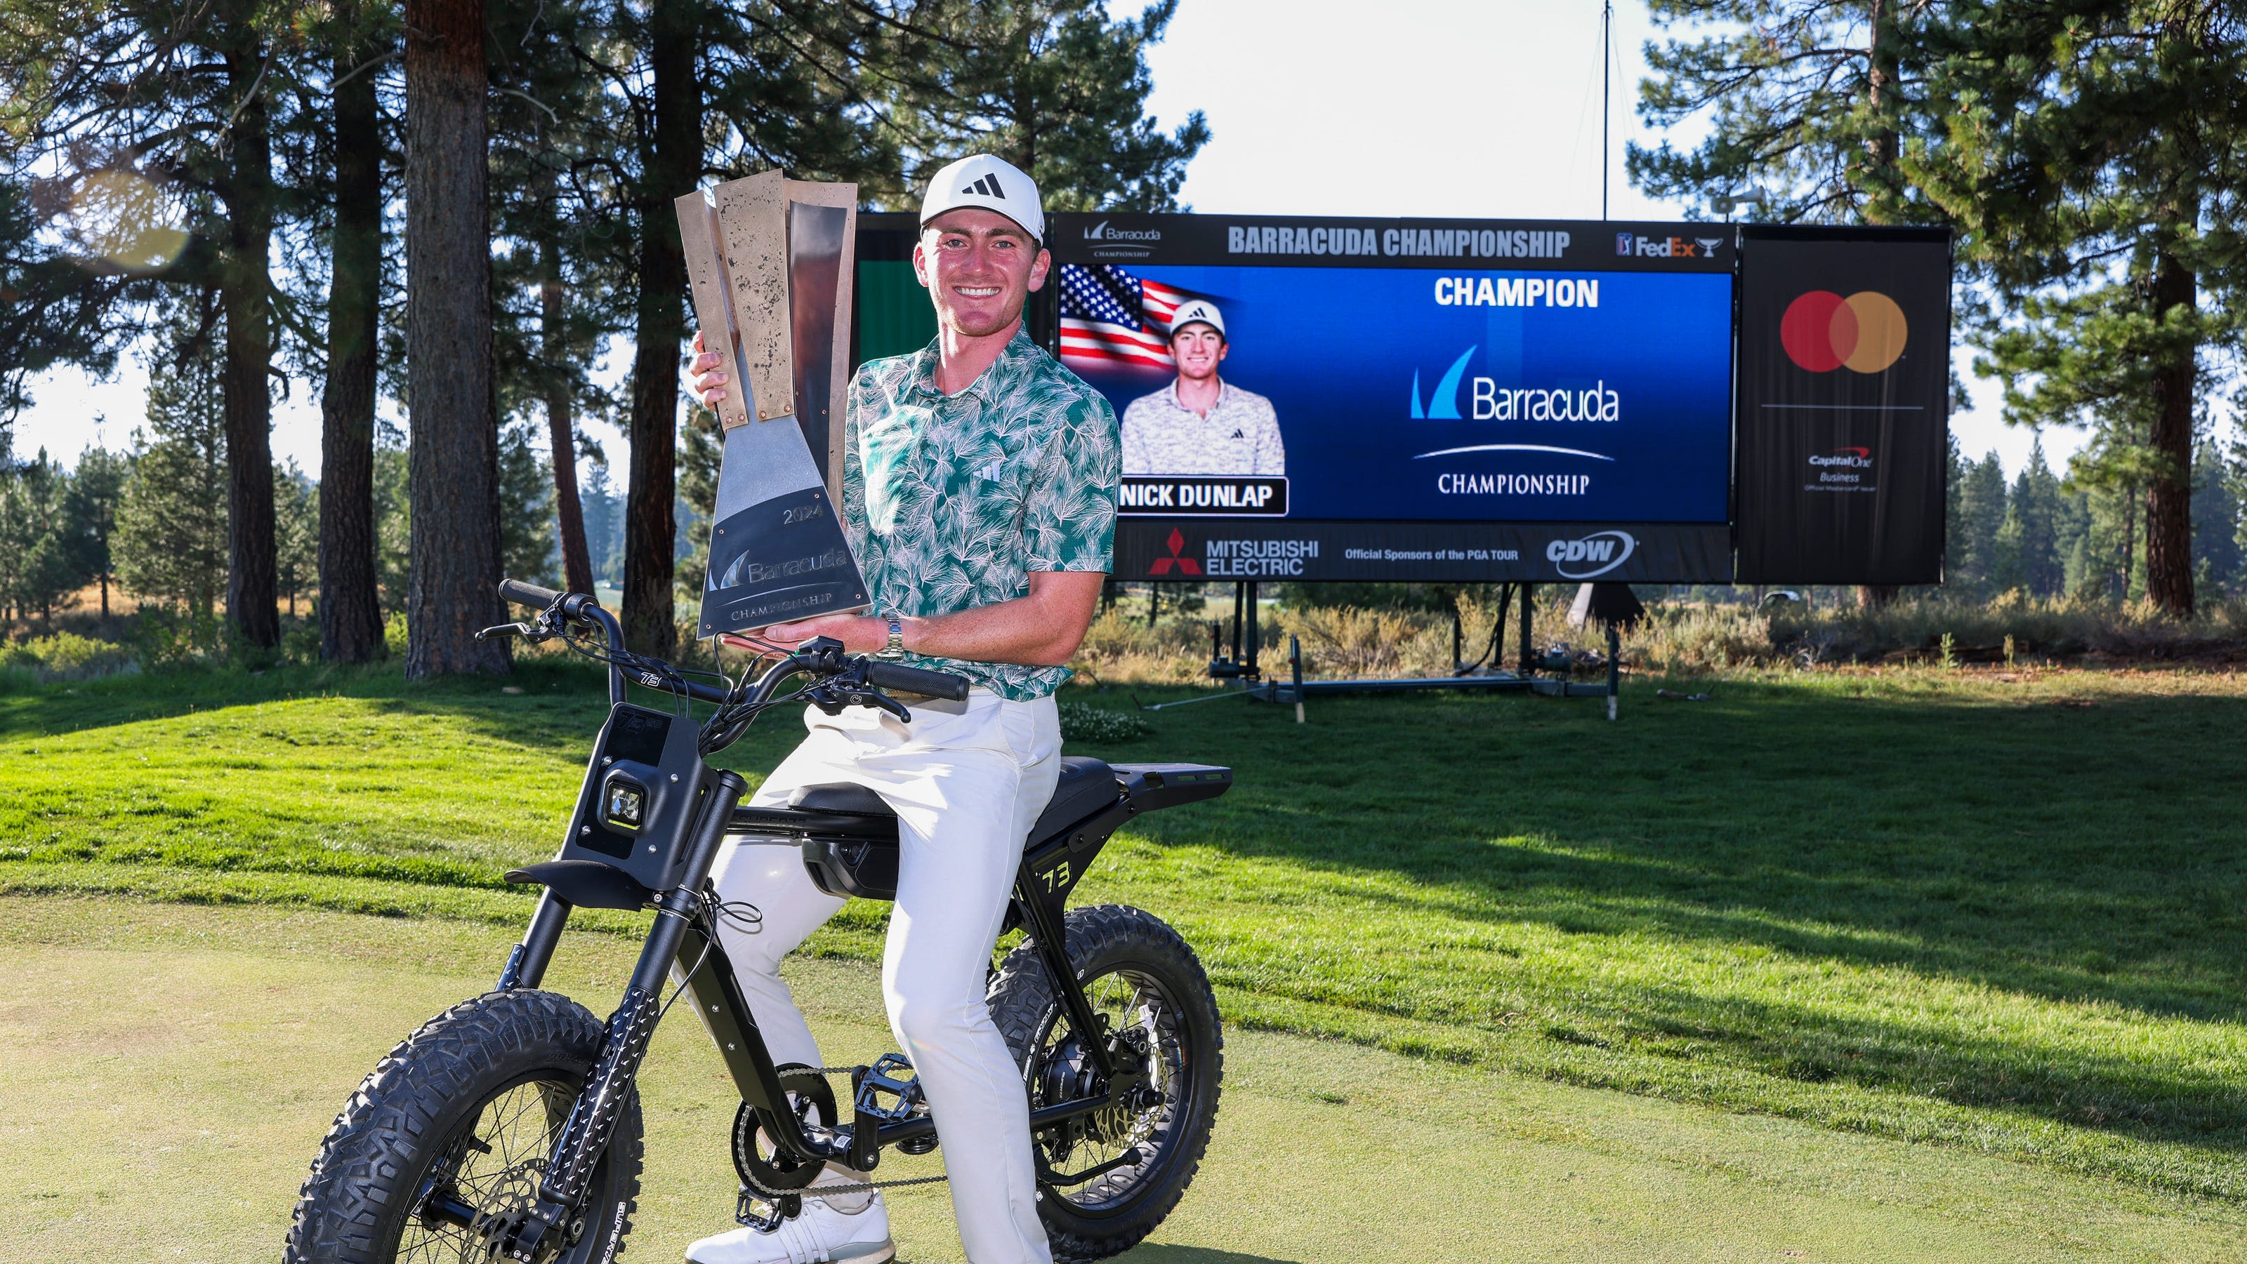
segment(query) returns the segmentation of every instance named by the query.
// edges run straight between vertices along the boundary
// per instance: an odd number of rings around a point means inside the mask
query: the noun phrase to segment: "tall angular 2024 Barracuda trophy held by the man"
[[[843,534],[856,184],[730,180],[674,202],[703,341],[730,355],[701,635],[867,604]]]

